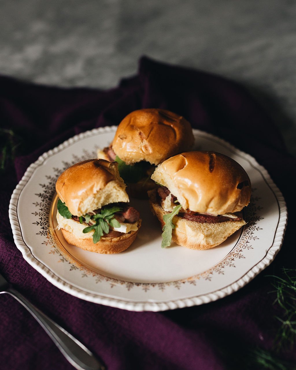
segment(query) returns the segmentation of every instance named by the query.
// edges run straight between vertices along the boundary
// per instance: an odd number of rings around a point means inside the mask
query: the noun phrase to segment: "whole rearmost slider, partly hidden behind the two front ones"
[[[147,190],[155,188],[150,179],[155,166],[193,144],[185,118],[164,109],[141,109],[120,122],[111,145],[98,151],[98,158],[117,161],[128,193],[145,198]]]

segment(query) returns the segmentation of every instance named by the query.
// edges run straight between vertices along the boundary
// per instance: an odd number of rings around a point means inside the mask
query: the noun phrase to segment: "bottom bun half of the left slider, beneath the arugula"
[[[140,219],[138,221],[137,231],[130,231],[115,238],[101,236],[100,241],[97,243],[94,243],[92,240],[93,231],[86,234],[82,232],[86,226],[80,222],[73,219],[65,219],[59,213],[57,213],[57,221],[58,228],[60,228],[65,240],[69,244],[90,252],[114,254],[124,251],[134,242],[139,228],[141,227],[142,220]]]

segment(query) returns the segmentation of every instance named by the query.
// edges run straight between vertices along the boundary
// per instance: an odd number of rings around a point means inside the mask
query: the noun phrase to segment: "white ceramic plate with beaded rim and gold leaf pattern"
[[[95,158],[116,127],[77,135],[31,164],[11,196],[14,241],[24,258],[67,293],[112,307],[161,311],[201,305],[229,295],[272,262],[282,245],[287,212],[282,194],[254,158],[227,142],[194,130],[195,149],[228,155],[252,182],[249,223],[220,246],[199,251],[161,248],[161,227],[148,201],[131,199],[141,213],[137,239],[124,252],[100,255],[65,242],[56,227],[55,182],[70,165]]]

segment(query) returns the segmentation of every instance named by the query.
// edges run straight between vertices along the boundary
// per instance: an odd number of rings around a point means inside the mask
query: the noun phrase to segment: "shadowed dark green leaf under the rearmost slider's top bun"
[[[151,164],[146,161],[127,165],[118,155],[115,157],[115,161],[118,163],[118,171],[125,184],[135,184],[143,177],[147,177],[147,170],[151,167]]]

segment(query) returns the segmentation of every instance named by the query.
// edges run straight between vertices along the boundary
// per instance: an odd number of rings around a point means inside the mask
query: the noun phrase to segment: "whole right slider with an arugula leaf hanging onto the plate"
[[[242,166],[223,154],[175,155],[151,178],[159,185],[148,195],[163,226],[162,248],[172,240],[191,249],[213,248],[246,224],[240,211],[250,201],[250,179]]]

